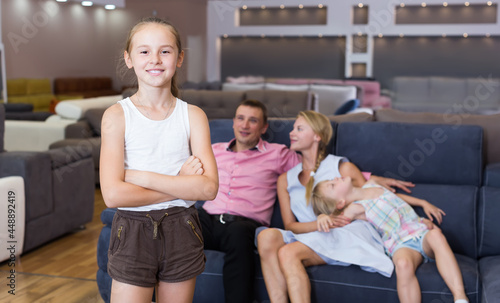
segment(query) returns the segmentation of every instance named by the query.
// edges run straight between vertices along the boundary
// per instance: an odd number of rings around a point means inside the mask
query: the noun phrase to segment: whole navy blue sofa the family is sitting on
[[[347,118],[346,118],[347,117]],[[366,121],[366,116],[356,116]],[[363,171],[397,177],[416,184],[415,196],[442,208],[447,216],[441,228],[456,253],[470,302],[500,302],[500,165],[484,168],[483,130],[473,125],[398,122],[345,122],[349,115],[331,117],[336,137],[330,152],[347,156]],[[365,120],[366,119],[366,120]],[[289,144],[293,119],[272,119],[266,139]],[[231,120],[210,121],[212,141],[233,137]],[[485,185],[485,180],[489,180]],[[111,279],[106,273],[109,230],[114,209],[105,210],[97,259],[97,283],[105,301]],[[423,216],[421,209],[417,212]],[[282,227],[279,207],[272,226]],[[224,254],[205,251],[206,269],[197,279],[194,302],[224,302]],[[258,255],[255,255],[258,260]],[[313,266],[307,269],[314,302],[398,302],[395,277],[367,273],[358,266]],[[451,293],[435,263],[417,271],[423,302],[452,302]],[[256,271],[257,302],[268,300],[260,268]]]

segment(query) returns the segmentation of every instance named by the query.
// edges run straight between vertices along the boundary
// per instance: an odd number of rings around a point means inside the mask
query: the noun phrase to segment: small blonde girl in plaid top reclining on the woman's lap
[[[332,213],[343,212],[346,217],[368,221],[377,229],[396,267],[400,302],[421,302],[415,271],[429,259],[436,260],[455,303],[469,302],[462,273],[448,241],[439,228],[428,219],[418,217],[410,205],[422,207],[430,220],[434,217],[441,223],[444,212],[429,202],[396,195],[372,182],[362,188],[353,187],[349,177],[322,181],[315,186],[312,195],[318,222],[328,221]]]

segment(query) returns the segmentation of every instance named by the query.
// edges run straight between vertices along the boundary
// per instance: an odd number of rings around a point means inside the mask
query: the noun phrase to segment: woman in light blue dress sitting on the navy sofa
[[[302,163],[278,179],[278,198],[286,231],[269,228],[257,239],[262,273],[273,303],[285,303],[288,298],[292,302],[310,302],[307,266],[357,264],[386,276],[393,271],[380,236],[367,222],[348,224],[348,218],[332,216],[327,232],[323,232],[316,221],[308,197],[317,181],[350,176],[354,184],[361,186],[366,182],[359,169],[346,158],[327,154],[332,133],[330,120],[314,111],[300,112],[290,133],[290,149],[302,153]],[[385,186],[406,191],[407,186],[412,186],[394,179],[372,178]]]

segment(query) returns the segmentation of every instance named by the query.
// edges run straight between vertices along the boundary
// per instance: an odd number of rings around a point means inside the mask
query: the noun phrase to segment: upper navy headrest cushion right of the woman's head
[[[383,135],[381,135],[383,134]],[[482,129],[444,124],[341,123],[337,155],[362,171],[414,183],[481,184]]]

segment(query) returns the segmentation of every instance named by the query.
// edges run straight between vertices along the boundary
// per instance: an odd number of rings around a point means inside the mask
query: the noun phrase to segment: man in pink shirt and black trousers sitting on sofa
[[[286,145],[261,139],[268,127],[267,109],[245,100],[233,118],[234,139],[212,145],[219,170],[219,192],[198,209],[205,249],[225,253],[226,302],[252,302],[255,230],[269,226],[276,201],[276,182],[301,157]],[[375,177],[375,176],[373,176]],[[409,192],[412,183],[376,177],[385,187]]]

